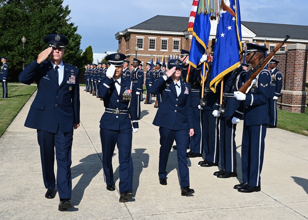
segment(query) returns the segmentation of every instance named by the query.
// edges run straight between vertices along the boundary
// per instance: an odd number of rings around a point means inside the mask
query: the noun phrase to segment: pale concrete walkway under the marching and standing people
[[[0,139],[1,219],[307,219],[308,137],[278,128],[267,130],[261,192],[233,189],[242,178],[242,121],[237,126],[237,178],[213,176],[217,167],[188,160],[193,196],[180,195],[176,151],[168,161],[168,185],[158,181],[159,132],[152,124],[156,108],[141,102],[139,132],[133,134],[133,199],[119,202],[118,151],[113,157],[116,190],[104,183],[99,120],[103,101],[80,88],[81,125],[72,149],[73,208],[58,211],[58,194],[44,197],[36,130],[23,126],[34,95]],[[55,165],[56,169],[56,165]]]

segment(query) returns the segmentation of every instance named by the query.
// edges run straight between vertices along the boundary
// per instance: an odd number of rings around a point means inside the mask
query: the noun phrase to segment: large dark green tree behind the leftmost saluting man
[[[10,81],[18,81],[22,71],[22,57],[25,65],[37,59],[47,45],[43,38],[49,34],[61,34],[69,39],[63,60],[83,70],[81,36],[77,26],[70,23],[68,5],[63,0],[8,0],[0,7],[0,53],[8,58]],[[25,36],[25,49],[21,38]]]

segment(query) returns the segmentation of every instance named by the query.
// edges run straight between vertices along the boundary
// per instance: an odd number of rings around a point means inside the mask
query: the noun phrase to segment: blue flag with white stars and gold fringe
[[[213,92],[227,73],[240,66],[241,51],[239,0],[221,0],[210,77]]]

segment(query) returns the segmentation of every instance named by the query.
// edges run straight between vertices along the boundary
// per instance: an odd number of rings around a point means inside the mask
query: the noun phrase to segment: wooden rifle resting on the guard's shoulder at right
[[[282,47],[284,43],[290,38],[289,35],[286,35],[286,39],[284,39],[281,43],[279,43],[275,49],[270,52],[253,70],[250,71],[248,80],[238,89],[238,92],[242,92],[245,94],[248,87],[251,85],[252,80],[264,69],[264,67],[270,62],[273,58],[274,54]]]

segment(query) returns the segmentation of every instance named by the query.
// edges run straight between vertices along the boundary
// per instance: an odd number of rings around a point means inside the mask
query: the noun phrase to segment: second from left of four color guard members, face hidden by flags
[[[214,48],[212,46],[212,51]],[[211,65],[213,62],[213,53],[211,52],[211,62],[209,64],[209,71],[204,84],[204,99],[205,106],[203,107],[203,151],[205,153],[205,160],[199,161],[198,165],[202,167],[218,166],[219,162],[219,89],[214,93],[209,88]],[[221,84],[217,85],[221,88]]]

